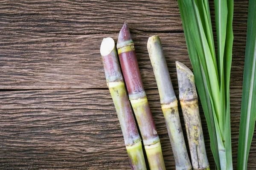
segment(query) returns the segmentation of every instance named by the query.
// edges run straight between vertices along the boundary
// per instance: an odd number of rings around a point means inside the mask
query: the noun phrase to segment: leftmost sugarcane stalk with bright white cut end
[[[140,135],[137,130],[131,104],[126,93],[116,54],[115,42],[108,37],[100,47],[107,85],[121,125],[125,146],[132,170],[146,170]]]

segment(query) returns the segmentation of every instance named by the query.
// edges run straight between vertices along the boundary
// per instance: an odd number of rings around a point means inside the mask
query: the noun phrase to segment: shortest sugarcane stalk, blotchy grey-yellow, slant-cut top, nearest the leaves
[[[180,105],[189,141],[189,150],[194,170],[209,170],[204,145],[204,135],[198,108],[198,96],[192,71],[176,61]]]

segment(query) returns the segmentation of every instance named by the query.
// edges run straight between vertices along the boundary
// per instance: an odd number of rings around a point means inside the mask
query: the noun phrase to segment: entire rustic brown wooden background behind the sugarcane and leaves
[[[230,100],[236,169],[248,2],[235,0],[234,6]],[[176,0],[1,0],[1,170],[130,169],[99,53],[102,39],[117,40],[124,21],[130,24],[166,168],[175,169],[146,42],[160,36],[178,96],[175,61],[191,64]],[[214,170],[202,109],[201,120]],[[256,169],[255,157],[256,135],[248,169]]]

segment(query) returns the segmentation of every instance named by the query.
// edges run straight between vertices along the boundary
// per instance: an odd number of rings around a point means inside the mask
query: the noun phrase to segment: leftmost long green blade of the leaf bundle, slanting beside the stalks
[[[200,96],[201,104],[203,106],[205,118],[207,120],[207,127],[210,136],[210,145],[213,157],[215,159],[216,166],[218,170],[221,169],[219,155],[218,155],[218,142],[216,136],[216,130],[214,125],[213,113],[211,108],[211,103],[209,102],[209,93],[205,91],[205,86],[209,84],[209,78],[207,74],[207,68],[205,64],[204,57],[201,61],[198,55],[204,55],[200,35],[197,26],[191,26],[191,24],[196,24],[195,11],[193,10],[192,2],[189,0],[177,0],[180,8],[180,16],[183,23],[184,34],[186,37],[186,44],[189,52],[190,61],[192,63],[193,72],[195,75],[195,83],[198,88],[198,93]],[[191,23],[190,23],[191,21]],[[194,34],[194,37],[192,37]],[[198,49],[196,47],[198,45]],[[203,68],[204,64],[204,68]],[[204,71],[204,69],[206,71]],[[204,79],[203,75],[204,74]],[[205,82],[205,83],[204,83]],[[208,102],[207,102],[208,101]]]

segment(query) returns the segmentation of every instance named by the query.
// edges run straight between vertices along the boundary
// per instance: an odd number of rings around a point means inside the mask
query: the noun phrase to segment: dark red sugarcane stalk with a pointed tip
[[[140,77],[134,43],[126,23],[119,33],[116,47],[129,99],[142,135],[149,167],[151,170],[165,170],[160,139]]]

